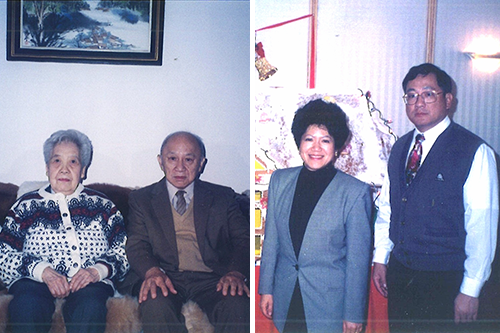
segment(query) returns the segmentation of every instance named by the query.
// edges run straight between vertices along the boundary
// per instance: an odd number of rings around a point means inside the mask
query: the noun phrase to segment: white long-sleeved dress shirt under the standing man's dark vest
[[[443,131],[451,121],[446,117],[439,124],[426,131],[422,143],[422,162]],[[419,134],[415,130],[415,137]],[[410,151],[408,151],[408,154]],[[380,196],[377,200],[378,216],[375,221],[375,250],[373,262],[387,264],[394,244],[389,238],[391,221],[390,180],[386,175]],[[495,256],[498,227],[498,176],[495,152],[482,144],[477,149],[469,176],[463,187],[465,238],[464,278],[460,292],[478,297],[486,280],[491,274],[491,263]]]

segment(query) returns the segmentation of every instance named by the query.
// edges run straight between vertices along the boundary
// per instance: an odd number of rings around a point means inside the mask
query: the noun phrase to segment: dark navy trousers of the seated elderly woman
[[[50,330],[55,298],[45,283],[31,279],[15,282],[9,293],[9,325],[12,333],[46,333]],[[105,283],[91,283],[66,297],[63,306],[67,333],[102,333],[106,329],[106,301],[113,288]]]

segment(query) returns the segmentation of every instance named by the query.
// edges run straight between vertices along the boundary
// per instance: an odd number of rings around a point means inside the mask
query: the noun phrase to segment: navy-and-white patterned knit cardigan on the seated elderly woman
[[[42,282],[52,267],[71,279],[94,267],[107,283],[129,269],[123,217],[105,195],[78,185],[65,196],[50,186],[29,192],[12,206],[0,232],[0,279],[10,286],[21,278]]]

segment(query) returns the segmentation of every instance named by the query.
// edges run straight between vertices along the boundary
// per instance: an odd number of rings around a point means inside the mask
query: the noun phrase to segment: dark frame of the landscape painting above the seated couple
[[[117,65],[162,65],[165,0],[149,0],[149,51],[21,47],[22,0],[7,0],[7,60]]]

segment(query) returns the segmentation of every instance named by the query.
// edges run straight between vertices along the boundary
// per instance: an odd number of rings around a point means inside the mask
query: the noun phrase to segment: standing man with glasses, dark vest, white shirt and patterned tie
[[[450,120],[452,79],[443,70],[415,66],[403,90],[416,129],[396,142],[389,158],[375,222],[373,282],[388,297],[391,332],[455,332],[477,319],[491,272],[495,153]]]

